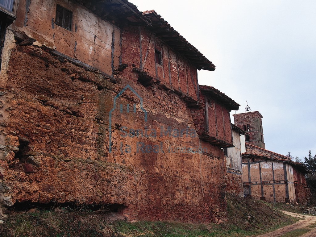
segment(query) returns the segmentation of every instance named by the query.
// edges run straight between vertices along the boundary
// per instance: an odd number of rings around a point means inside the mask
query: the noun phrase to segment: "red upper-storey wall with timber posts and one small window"
[[[161,65],[155,61],[155,49],[162,54]],[[174,52],[144,27],[123,28],[122,63],[128,64],[128,68],[121,74],[125,78],[137,80],[137,76],[132,72],[132,69],[134,67],[141,68],[168,86],[189,94],[197,100],[197,69],[195,66],[189,64],[185,58]]]

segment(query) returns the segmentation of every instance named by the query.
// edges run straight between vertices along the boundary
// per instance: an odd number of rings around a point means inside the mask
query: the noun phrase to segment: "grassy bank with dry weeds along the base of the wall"
[[[297,220],[263,201],[228,196],[227,205],[228,221],[222,224],[149,221],[110,223],[104,212],[63,208],[33,213],[11,212],[9,219],[0,225],[0,236],[245,237],[270,232]]]

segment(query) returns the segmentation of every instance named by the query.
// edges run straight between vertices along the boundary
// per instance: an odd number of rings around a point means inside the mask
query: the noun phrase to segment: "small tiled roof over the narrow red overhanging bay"
[[[236,101],[229,98],[226,94],[220,92],[216,88],[212,86],[199,86],[200,90],[204,92],[204,94],[210,95],[212,98],[215,98],[221,101],[224,105],[226,105],[231,110],[239,110],[240,104]]]

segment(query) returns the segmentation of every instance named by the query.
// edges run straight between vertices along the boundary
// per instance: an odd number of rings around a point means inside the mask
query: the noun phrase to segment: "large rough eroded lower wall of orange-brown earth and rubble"
[[[7,73],[1,88],[3,206],[119,204],[128,220],[226,219],[222,149],[198,139],[179,95],[120,75],[113,84],[34,46],[14,47]],[[144,110],[127,88],[111,112],[127,84]]]

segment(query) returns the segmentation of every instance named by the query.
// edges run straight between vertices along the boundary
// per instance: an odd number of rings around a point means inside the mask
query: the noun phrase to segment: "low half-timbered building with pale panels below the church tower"
[[[310,191],[304,164],[287,156],[246,143],[242,154],[244,194],[268,202],[306,204]]]

